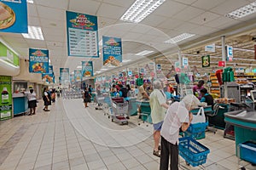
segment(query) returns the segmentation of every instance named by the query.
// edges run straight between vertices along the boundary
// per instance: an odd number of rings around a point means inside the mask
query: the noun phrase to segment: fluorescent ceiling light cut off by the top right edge
[[[244,7],[237,8],[236,10],[232,11],[230,14],[226,14],[226,17],[229,17],[231,19],[240,19],[242,17],[245,17],[249,14],[253,14],[256,12],[256,2],[247,4]]]

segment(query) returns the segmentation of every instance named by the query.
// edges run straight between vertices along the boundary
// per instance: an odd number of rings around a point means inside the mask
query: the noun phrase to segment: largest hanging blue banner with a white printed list
[[[97,17],[66,11],[68,56],[99,57]]]

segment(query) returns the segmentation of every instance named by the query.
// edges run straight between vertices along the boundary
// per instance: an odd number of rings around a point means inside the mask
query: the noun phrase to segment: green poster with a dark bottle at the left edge
[[[12,78],[0,76],[0,120],[12,117]]]

